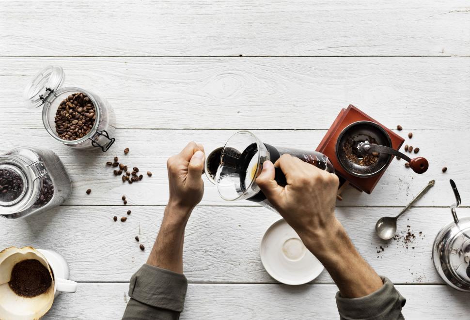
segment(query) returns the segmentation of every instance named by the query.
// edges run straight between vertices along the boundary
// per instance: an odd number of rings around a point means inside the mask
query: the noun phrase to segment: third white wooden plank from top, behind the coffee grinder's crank
[[[19,134],[19,132],[21,132]],[[254,131],[263,141],[278,146],[290,146],[314,150],[325,131]],[[72,150],[50,137],[43,129],[0,129],[0,152],[18,146],[42,146],[57,152],[73,183],[71,197],[66,204],[122,205],[121,197],[126,195],[129,205],[165,205],[168,201],[168,182],[166,160],[176,154],[190,141],[195,140],[205,146],[207,152],[223,146],[235,133],[233,130],[117,130],[116,142],[110,151],[103,153],[98,149],[79,152]],[[418,175],[404,167],[403,160],[393,160],[382,176],[372,195],[360,193],[349,188],[343,193],[340,206],[405,206],[429,180],[435,179],[436,185],[418,203],[419,206],[448,206],[454,196],[448,180],[454,179],[462,195],[470,194],[470,172],[467,168],[469,154],[462,149],[462,141],[470,141],[470,131],[413,131],[407,144],[419,147],[418,155],[430,163],[429,170]],[[404,137],[407,131],[400,132]],[[124,149],[131,152],[124,155]],[[412,153],[414,155],[414,153]],[[120,177],[106,167],[107,161],[117,155],[120,161],[137,166],[143,171],[152,171],[152,178],[139,183],[122,183]],[[441,168],[448,167],[447,173]],[[250,201],[226,202],[216,187],[205,179],[205,195],[202,205],[253,205]],[[87,195],[85,191],[93,192]],[[470,205],[470,197],[462,196],[462,205]]]

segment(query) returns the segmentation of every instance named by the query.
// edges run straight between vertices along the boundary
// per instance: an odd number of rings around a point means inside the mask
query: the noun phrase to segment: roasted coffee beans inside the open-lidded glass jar
[[[95,114],[94,104],[86,94],[69,95],[57,107],[54,121],[57,135],[67,141],[85,137],[94,125]]]

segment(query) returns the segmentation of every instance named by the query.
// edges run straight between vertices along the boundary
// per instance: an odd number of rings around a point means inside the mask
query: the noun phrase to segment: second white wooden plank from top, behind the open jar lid
[[[109,99],[118,128],[328,129],[349,104],[390,128],[470,125],[468,57],[0,58],[0,127],[42,127],[22,96],[49,64]]]

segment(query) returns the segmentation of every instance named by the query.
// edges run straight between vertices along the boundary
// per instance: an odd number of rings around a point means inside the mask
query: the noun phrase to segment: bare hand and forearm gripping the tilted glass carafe
[[[274,166],[285,174],[285,187],[274,180]],[[363,297],[382,287],[382,279],[362,259],[334,215],[336,175],[283,154],[274,165],[263,163],[256,183],[325,266],[344,298]]]

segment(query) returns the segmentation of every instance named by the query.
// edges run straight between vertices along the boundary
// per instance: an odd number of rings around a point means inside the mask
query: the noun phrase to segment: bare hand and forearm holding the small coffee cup
[[[167,167],[170,198],[147,263],[183,273],[186,223],[204,195],[201,177],[204,168],[204,147],[189,142],[183,151],[168,159]]]

